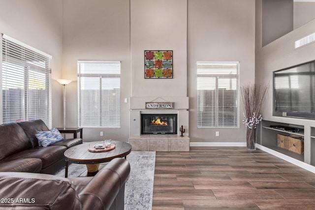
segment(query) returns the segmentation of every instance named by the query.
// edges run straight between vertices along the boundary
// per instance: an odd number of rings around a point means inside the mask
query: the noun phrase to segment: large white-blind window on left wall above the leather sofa
[[[2,35],[2,122],[51,127],[51,56]]]

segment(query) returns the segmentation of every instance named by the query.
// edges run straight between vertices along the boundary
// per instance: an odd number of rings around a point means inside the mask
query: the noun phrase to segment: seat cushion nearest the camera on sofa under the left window
[[[39,173],[41,170],[41,159],[22,158],[9,162],[0,163],[0,172],[32,172]]]

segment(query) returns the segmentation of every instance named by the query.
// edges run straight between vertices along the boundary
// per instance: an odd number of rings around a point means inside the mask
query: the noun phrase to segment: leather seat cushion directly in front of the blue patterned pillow
[[[24,150],[12,154],[3,160],[11,161],[20,158],[39,158],[42,161],[42,168],[44,169],[63,158],[63,153],[66,149],[67,148],[63,146],[35,147],[31,150]]]

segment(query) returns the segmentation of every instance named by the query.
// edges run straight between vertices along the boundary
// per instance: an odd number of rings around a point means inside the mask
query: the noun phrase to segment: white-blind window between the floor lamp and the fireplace
[[[120,127],[120,61],[78,61],[81,127]]]

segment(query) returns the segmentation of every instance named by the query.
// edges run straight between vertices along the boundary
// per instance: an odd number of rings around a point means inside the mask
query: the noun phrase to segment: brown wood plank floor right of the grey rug
[[[262,150],[157,152],[153,210],[314,210],[315,174]]]

